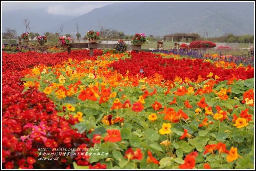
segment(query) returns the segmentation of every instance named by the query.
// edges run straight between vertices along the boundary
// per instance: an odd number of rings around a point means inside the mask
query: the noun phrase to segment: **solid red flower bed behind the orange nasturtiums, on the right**
[[[143,69],[145,72],[143,76],[150,77],[158,73],[163,75],[165,80],[174,80],[176,76],[179,76],[182,79],[187,77],[195,81],[199,75],[202,75],[203,79],[208,79],[207,75],[210,72],[213,73],[213,77],[215,75],[219,76],[219,81],[229,80],[233,77],[233,74],[242,80],[254,77],[254,68],[250,66],[248,66],[247,71],[245,71],[245,67],[223,69],[210,62],[204,62],[202,59],[162,58],[161,55],[148,52],[136,53],[135,51],[131,52],[131,59],[119,59],[119,61],[111,64],[111,67],[122,75],[125,75],[127,70],[129,70],[129,73],[136,75],[140,72],[140,69]]]

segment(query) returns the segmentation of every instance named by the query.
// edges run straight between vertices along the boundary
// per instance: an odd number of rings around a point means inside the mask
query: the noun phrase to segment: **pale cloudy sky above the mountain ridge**
[[[45,8],[49,14],[64,16],[80,16],[118,1],[1,1],[1,11],[14,11],[17,9],[38,9]]]

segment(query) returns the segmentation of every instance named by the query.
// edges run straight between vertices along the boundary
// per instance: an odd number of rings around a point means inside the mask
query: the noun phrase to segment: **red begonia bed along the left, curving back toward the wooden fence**
[[[102,51],[95,50],[94,54],[100,56]],[[6,169],[66,168],[73,159],[59,153],[68,152],[78,145],[93,147],[94,143],[86,138],[85,133],[77,133],[71,128],[79,122],[78,118],[58,117],[57,112],[65,109],[56,111],[53,101],[37,90],[36,81],[34,88],[22,93],[24,84],[19,81],[24,77],[22,70],[39,64],[52,66],[69,58],[81,61],[95,57],[91,57],[88,50],[72,51],[70,55],[67,52],[2,52],[2,163]],[[57,150],[52,150],[54,148]],[[54,157],[55,153],[58,155]],[[46,160],[46,155],[52,156],[51,160]],[[78,165],[89,165],[88,157],[75,158],[75,161]]]

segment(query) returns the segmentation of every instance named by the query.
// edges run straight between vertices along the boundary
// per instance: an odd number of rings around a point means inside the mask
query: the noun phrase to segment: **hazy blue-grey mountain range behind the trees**
[[[254,35],[254,8],[254,2],[117,2],[75,18],[48,14],[44,9],[17,10],[2,13],[2,30],[10,27],[20,35],[26,31],[22,19],[28,17],[31,31],[41,35],[46,31],[60,32],[61,24],[64,24],[61,34],[73,36],[77,33],[75,25],[78,24],[82,37],[87,31],[99,31],[100,27],[123,31],[125,35]]]

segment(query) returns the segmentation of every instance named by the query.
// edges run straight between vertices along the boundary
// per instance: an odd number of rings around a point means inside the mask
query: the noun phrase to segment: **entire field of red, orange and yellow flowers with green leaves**
[[[254,151],[251,65],[2,52],[2,168],[254,169]]]

